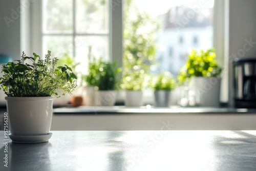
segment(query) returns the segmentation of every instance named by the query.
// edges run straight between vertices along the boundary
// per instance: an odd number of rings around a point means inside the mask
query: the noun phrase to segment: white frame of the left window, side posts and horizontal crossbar
[[[74,0],[75,2],[75,0]],[[30,20],[30,42],[27,48],[31,54],[31,50],[37,54],[42,53],[42,36],[52,35],[42,33],[42,0],[37,0],[31,3],[29,13]],[[117,61],[117,67],[122,67],[122,0],[109,0],[109,56],[110,60]],[[55,35],[55,34],[54,34]],[[81,35],[81,34],[79,34]],[[86,34],[94,35],[94,34]],[[101,34],[95,34],[101,35]],[[72,34],[72,36],[75,36]],[[74,42],[73,42],[74,43]]]

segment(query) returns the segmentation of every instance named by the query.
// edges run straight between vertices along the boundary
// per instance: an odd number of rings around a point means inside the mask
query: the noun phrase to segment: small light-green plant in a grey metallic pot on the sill
[[[168,107],[170,103],[170,91],[176,87],[176,80],[168,72],[160,73],[152,80],[151,87],[154,90],[155,105]]]

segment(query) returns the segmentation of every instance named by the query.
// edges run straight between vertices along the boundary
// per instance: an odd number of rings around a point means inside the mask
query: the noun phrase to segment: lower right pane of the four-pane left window
[[[77,70],[87,73],[89,56],[109,59],[108,36],[77,36],[75,39],[76,61],[79,62]]]

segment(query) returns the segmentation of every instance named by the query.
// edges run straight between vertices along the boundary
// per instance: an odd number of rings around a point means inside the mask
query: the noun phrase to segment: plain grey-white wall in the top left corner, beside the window
[[[19,0],[0,1],[0,53],[13,59],[19,59],[21,54],[19,7]]]

